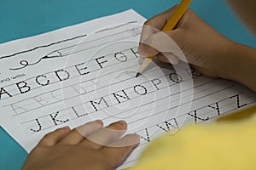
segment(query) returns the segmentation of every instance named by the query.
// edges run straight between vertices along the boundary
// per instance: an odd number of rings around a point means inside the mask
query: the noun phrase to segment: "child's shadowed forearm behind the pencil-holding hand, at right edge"
[[[256,92],[256,49],[230,42],[226,60],[222,65],[225,79],[239,82]]]

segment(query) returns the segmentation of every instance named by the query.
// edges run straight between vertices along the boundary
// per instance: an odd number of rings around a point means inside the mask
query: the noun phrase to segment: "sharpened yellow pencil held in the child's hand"
[[[183,14],[185,14],[187,8],[189,8],[189,4],[191,2],[192,0],[182,0],[181,3],[178,4],[170,20],[168,20],[168,22],[166,23],[166,26],[163,28],[162,31],[173,30],[173,28],[177,25],[177,22],[183,17]],[[141,65],[139,71],[137,72],[136,77],[138,77],[143,73],[144,69],[149,65],[152,59],[154,59],[154,56],[148,57],[147,59],[143,60],[143,64]]]

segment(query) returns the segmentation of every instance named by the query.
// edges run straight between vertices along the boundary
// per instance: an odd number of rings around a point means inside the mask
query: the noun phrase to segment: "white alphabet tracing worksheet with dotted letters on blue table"
[[[131,9],[1,44],[1,126],[29,152],[56,128],[125,120],[127,133],[141,136],[129,167],[160,134],[255,103],[249,89],[184,63],[155,61],[136,78],[144,21]]]

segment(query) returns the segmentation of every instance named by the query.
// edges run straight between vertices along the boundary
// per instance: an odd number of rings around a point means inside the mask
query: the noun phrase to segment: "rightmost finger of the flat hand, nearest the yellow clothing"
[[[106,156],[110,156],[111,167],[118,167],[130,155],[139,144],[140,137],[137,134],[127,134],[124,138],[114,141],[108,147],[102,148]]]

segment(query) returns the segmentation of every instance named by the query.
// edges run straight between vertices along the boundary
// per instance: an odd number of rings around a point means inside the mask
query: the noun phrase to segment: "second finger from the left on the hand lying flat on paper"
[[[86,136],[95,132],[102,126],[103,122],[100,120],[88,122],[80,127],[74,128],[64,139],[61,140],[59,144],[79,144]]]

